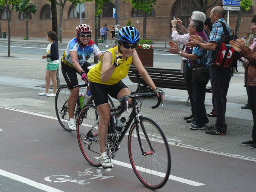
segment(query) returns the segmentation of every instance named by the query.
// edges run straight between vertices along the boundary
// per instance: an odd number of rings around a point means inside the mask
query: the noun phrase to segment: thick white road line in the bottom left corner
[[[33,186],[37,189],[44,190],[44,191],[47,191],[47,192],[64,192],[64,191],[61,191],[59,189],[55,189],[53,187],[44,185],[42,183],[38,183],[38,182],[35,182],[33,180],[27,179],[25,177],[21,177],[19,175],[15,175],[13,173],[6,172],[2,169],[0,169],[0,175],[3,175],[4,177],[9,177],[10,179],[13,179],[13,180],[17,180],[21,183],[26,183],[27,185]]]

